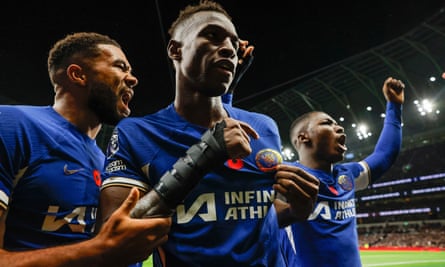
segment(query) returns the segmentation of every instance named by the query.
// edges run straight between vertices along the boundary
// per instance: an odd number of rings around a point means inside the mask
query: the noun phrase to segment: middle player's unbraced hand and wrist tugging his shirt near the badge
[[[307,219],[314,209],[320,181],[303,169],[281,164],[277,166],[274,190],[284,197],[274,201],[280,227]]]

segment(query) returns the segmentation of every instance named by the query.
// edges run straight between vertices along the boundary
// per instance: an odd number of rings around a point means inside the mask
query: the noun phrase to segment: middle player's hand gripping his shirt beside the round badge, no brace
[[[303,169],[286,164],[277,166],[275,180],[273,188],[286,198],[292,215],[297,221],[306,220],[315,207],[320,181]]]

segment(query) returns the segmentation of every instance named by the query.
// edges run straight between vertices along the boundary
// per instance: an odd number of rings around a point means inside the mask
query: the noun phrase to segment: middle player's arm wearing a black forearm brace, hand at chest
[[[215,166],[222,165],[228,158],[248,156],[250,136],[258,138],[258,133],[248,124],[231,118],[206,131],[201,142],[191,146],[186,155],[165,173],[132,211],[134,217],[170,216],[199,180]],[[99,221],[107,217],[121,203],[128,193],[123,186],[108,186],[101,191]]]

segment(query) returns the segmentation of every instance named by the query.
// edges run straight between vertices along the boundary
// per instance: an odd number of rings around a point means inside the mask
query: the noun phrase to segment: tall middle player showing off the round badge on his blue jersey
[[[123,199],[132,186],[151,192],[166,172],[178,180],[202,174],[175,209],[169,239],[153,254],[154,265],[286,266],[279,247],[280,226],[307,218],[318,180],[304,171],[274,180],[281,163],[275,122],[222,103],[221,96],[234,79],[241,41],[219,4],[201,1],[186,7],[169,33],[175,100],[155,114],[117,125],[103,176],[104,218],[120,204],[119,194]],[[208,144],[195,144],[222,121],[223,137],[214,137],[224,140],[227,155],[222,161],[199,160],[196,151],[208,151]],[[186,157],[188,167],[171,171],[185,154],[193,158]]]

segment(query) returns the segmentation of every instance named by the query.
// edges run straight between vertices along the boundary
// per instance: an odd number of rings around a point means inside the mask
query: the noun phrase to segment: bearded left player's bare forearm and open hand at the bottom
[[[133,189],[124,203],[94,238],[72,245],[10,252],[0,249],[0,266],[83,267],[126,266],[145,260],[167,240],[170,219],[132,219],[130,210],[139,198]],[[4,210],[0,216],[5,216]]]

